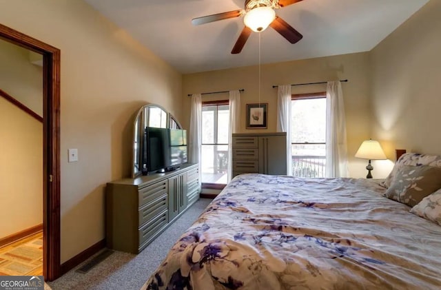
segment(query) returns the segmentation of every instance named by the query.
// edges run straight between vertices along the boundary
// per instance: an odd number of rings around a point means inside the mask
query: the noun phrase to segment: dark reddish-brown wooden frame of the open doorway
[[[61,274],[60,50],[2,24],[0,39],[43,54],[43,276],[52,281]]]

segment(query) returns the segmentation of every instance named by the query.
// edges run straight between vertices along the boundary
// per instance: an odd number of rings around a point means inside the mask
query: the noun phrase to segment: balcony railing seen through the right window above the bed
[[[292,156],[292,175],[297,177],[325,177],[325,156]]]

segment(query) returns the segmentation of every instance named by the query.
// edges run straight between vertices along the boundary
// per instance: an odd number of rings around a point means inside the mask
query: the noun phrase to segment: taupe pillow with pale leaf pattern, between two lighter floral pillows
[[[440,167],[404,165],[398,169],[384,196],[413,207],[440,188]]]

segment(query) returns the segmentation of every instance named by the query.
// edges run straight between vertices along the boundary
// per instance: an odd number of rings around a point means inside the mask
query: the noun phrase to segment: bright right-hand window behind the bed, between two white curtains
[[[326,92],[292,95],[291,155],[293,176],[325,177]]]

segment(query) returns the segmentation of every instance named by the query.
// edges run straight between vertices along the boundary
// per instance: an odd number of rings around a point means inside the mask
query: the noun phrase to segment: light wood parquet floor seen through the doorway
[[[43,276],[43,231],[0,248],[0,276]]]

